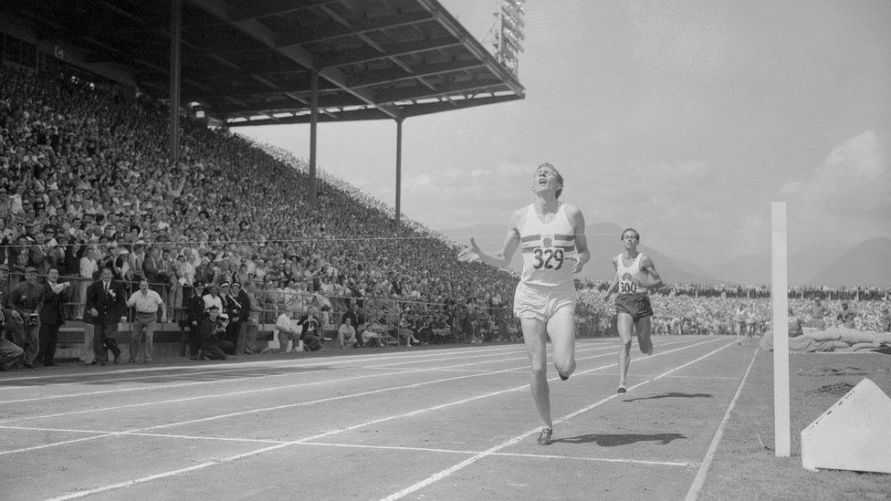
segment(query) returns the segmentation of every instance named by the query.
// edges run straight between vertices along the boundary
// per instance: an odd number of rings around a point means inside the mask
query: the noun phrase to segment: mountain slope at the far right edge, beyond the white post
[[[891,285],[891,239],[878,236],[866,240],[823,267],[808,284],[841,286]]]

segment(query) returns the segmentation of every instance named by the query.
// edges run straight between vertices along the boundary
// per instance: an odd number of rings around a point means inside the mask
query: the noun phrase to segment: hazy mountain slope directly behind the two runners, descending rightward
[[[477,244],[480,247],[492,251],[501,248],[507,232],[506,224],[474,224],[463,228],[442,230],[444,235],[461,245],[469,245],[469,237],[476,236]],[[587,233],[589,234],[588,248],[591,250],[591,262],[582,269],[582,277],[609,280],[615,272],[612,265],[613,256],[622,252],[622,243],[619,241],[622,227],[612,223],[589,224]],[[641,245],[641,251],[653,259],[656,269],[659,270],[666,282],[705,284],[717,282],[712,277],[698,273],[698,270],[687,271],[676,260],[655,249]],[[522,258],[519,253],[514,255],[511,268],[517,271],[522,269]]]

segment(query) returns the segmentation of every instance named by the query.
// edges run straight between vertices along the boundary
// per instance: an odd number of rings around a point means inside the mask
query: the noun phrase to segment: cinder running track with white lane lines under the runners
[[[550,367],[550,446],[520,344],[4,372],[0,497],[683,499],[753,347],[635,345],[624,395],[617,350]]]

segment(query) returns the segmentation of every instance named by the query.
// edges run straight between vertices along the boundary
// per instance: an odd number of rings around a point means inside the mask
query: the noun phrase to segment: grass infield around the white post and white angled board
[[[790,355],[789,458],[774,456],[773,353],[756,357],[698,499],[891,499],[891,475],[805,470],[801,443],[802,430],[864,378],[891,395],[891,355]]]

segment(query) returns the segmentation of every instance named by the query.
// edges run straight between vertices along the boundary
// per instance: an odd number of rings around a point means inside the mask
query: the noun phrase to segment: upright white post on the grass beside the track
[[[777,457],[789,457],[789,297],[786,263],[786,203],[770,204],[773,297],[773,429]]]

